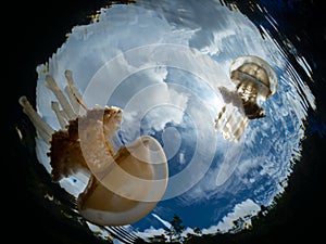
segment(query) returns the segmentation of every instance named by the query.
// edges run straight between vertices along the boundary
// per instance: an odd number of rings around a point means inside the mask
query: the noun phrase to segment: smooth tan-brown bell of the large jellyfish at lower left
[[[113,162],[116,166],[101,179],[92,176],[78,196],[80,215],[105,226],[128,224],[143,218],[166,189],[167,164],[162,160],[166,162],[163,150],[151,137],[140,137],[122,146]]]

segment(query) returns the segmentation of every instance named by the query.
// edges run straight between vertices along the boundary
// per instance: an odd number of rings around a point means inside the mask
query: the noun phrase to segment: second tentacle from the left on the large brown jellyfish
[[[63,112],[67,116],[68,120],[75,119],[77,117],[77,114],[74,112],[72,105],[63,94],[62,90],[58,87],[54,78],[50,75],[46,76],[46,86],[48,89],[50,89],[55,98],[58,99],[60,105],[62,106]]]

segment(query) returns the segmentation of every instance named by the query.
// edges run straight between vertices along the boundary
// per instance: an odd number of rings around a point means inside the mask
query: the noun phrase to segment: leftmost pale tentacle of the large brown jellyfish
[[[50,142],[54,130],[50,127],[40,115],[33,108],[29,101],[25,95],[21,97],[18,100],[20,104],[23,106],[24,113],[28,116],[29,120],[33,123],[34,127],[39,132],[40,137],[47,143]]]

